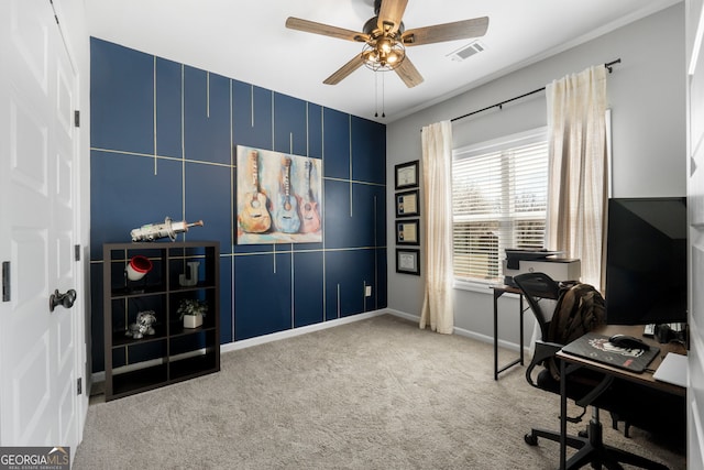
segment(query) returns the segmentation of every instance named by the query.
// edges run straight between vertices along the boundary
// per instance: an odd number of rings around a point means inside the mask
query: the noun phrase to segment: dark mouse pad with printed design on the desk
[[[650,361],[660,352],[660,348],[652,345],[647,351],[619,348],[608,342],[608,338],[604,335],[587,332],[562,348],[562,350],[569,354],[603,362],[631,372],[645,371]]]

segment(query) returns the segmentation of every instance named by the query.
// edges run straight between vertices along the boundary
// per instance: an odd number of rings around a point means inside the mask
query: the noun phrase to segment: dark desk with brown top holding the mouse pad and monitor
[[[604,364],[602,362],[592,361],[586,358],[581,358],[578,356],[572,356],[566,352],[559,351],[557,357],[561,359],[560,361],[560,375],[565,376],[565,373],[569,373],[568,365],[570,368],[588,368],[601,373],[612,374],[618,379],[624,379],[631,381],[634,383],[650,386],[663,392],[672,393],[679,396],[686,395],[686,389],[683,386],[674,385],[667,382],[657,381],[653,379],[652,374],[658,370],[662,359],[668,352],[676,352],[680,354],[686,354],[686,349],[679,343],[658,343],[652,338],[642,337],[645,325],[636,325],[636,326],[624,326],[624,325],[606,325],[600,328],[596,328],[594,332],[612,336],[616,334],[629,335],[636,338],[641,338],[645,342],[657,346],[660,348],[660,353],[656,356],[656,358],[648,364],[648,369],[646,369],[642,373],[630,372],[625,369],[614,368],[612,365]],[[560,381],[560,469],[565,468],[566,463],[566,435],[568,435],[568,396],[566,396],[566,380]]]

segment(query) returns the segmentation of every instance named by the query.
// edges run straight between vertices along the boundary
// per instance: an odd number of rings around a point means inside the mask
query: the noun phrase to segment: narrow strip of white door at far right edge
[[[690,352],[688,467],[704,468],[704,21],[702,0],[686,1]]]

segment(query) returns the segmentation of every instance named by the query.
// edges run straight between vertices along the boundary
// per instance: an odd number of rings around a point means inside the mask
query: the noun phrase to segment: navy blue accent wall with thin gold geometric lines
[[[220,241],[222,343],[386,307],[383,124],[98,39],[90,51],[94,371],[102,243],[167,216],[205,221],[179,239]],[[237,244],[237,145],[322,160],[322,243]]]

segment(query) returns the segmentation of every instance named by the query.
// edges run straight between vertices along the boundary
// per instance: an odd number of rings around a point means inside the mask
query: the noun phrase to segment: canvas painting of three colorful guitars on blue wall
[[[237,147],[237,242],[322,241],[322,162]]]

